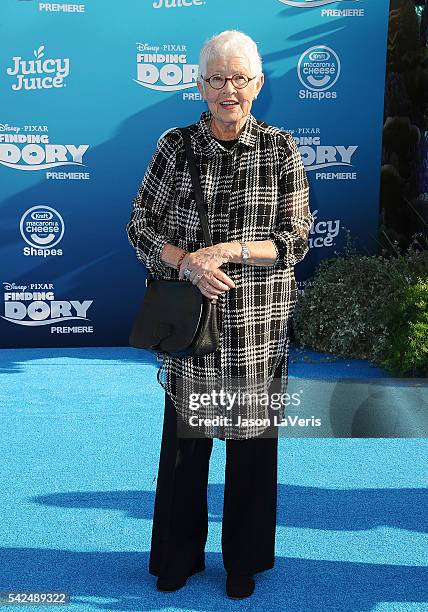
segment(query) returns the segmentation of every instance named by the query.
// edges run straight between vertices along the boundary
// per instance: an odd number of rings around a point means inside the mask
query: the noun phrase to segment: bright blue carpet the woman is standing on
[[[224,595],[220,440],[207,569],[172,594],[159,593],[147,572],[163,420],[156,359],[131,348],[69,348],[3,349],[0,360],[1,591],[64,591],[71,603],[62,609],[78,612],[428,610],[428,444],[418,423],[407,439],[328,437],[354,427],[379,390],[401,406],[424,403],[420,382],[291,351],[290,393],[303,390],[302,411],[329,422],[322,436],[306,428],[280,439],[276,564],[239,602]],[[340,421],[350,391],[361,405]]]

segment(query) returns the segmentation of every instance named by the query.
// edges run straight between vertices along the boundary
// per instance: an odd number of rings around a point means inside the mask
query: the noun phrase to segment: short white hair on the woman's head
[[[199,54],[199,81],[205,84],[202,75],[205,76],[207,66],[212,59],[233,56],[237,53],[242,53],[248,59],[252,76],[258,76],[262,72],[262,58],[254,40],[239,30],[225,30],[204,43]]]

